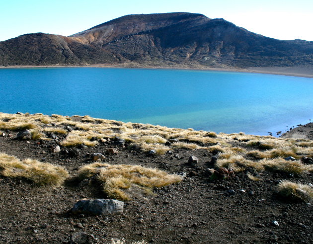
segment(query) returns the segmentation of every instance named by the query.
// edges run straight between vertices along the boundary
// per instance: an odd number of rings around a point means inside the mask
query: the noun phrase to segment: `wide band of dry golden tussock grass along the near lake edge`
[[[34,127],[38,133],[67,134],[67,130],[61,128],[61,125],[72,125],[74,130],[61,143],[63,146],[70,147],[79,144],[94,146],[97,142],[91,142],[91,138],[114,138],[118,136],[128,143],[139,145],[143,151],[156,150],[157,154],[165,154],[169,150],[186,148],[208,150],[214,155],[219,154],[220,160],[234,160],[235,156],[240,156],[241,164],[230,163],[236,165],[237,170],[242,170],[244,167],[253,167],[254,164],[257,164],[256,168],[260,169],[259,161],[263,159],[271,160],[289,156],[300,159],[303,156],[310,157],[313,155],[313,142],[304,139],[278,139],[272,136],[245,135],[242,132],[238,134],[216,134],[214,132],[167,128],[151,124],[123,123],[121,121],[95,119],[90,116],[80,118],[80,122],[77,122],[79,121],[77,118],[77,121],[72,121],[69,117],[56,114],[47,116],[42,114],[0,113],[0,129],[20,130]],[[46,125],[47,123],[54,123],[59,127],[49,127]],[[165,146],[164,144],[168,139],[177,139],[179,142]],[[201,147],[199,144],[215,146]],[[251,151],[251,149],[253,150]],[[227,163],[224,162],[224,164]]]

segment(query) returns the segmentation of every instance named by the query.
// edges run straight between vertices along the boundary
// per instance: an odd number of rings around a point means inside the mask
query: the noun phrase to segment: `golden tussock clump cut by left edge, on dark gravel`
[[[25,159],[0,153],[0,174],[12,178],[25,178],[37,185],[60,186],[69,177],[66,169],[50,163]]]

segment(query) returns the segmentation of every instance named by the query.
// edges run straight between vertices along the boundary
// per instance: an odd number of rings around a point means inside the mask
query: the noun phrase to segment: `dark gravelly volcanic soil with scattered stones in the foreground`
[[[122,239],[126,243],[312,243],[310,201],[284,198],[277,193],[281,180],[313,183],[312,171],[256,172],[246,167],[235,170],[231,176],[211,177],[207,168],[216,168],[221,151],[210,148],[218,149],[216,146],[220,146],[225,149],[226,145],[232,145],[233,151],[239,154],[243,150],[251,150],[248,143],[255,138],[241,140],[242,135],[217,135],[216,140],[228,138],[227,144],[219,141],[212,146],[214,142],[193,141],[198,148],[175,147],[164,154],[157,154],[150,149],[130,147],[127,140],[124,145],[117,145],[116,140],[109,137],[102,140],[91,138],[90,141],[98,142],[93,147],[84,144],[62,146],[62,141],[69,137],[67,133],[55,135],[45,132],[47,140],[17,140],[19,131],[16,128],[4,129],[10,119],[2,114],[1,120],[0,153],[20,160],[31,158],[61,165],[69,171],[70,177],[61,187],[51,187],[38,186],[23,178],[0,176],[0,243],[71,243],[71,238],[72,243],[98,244]],[[81,122],[82,118],[68,120]],[[40,124],[41,128],[72,130],[67,124],[44,122],[45,125]],[[133,128],[136,126],[142,125],[133,125]],[[74,125],[72,127],[75,129]],[[83,130],[81,124],[80,130]],[[298,132],[301,133],[301,129]],[[304,130],[302,135],[312,139],[312,130]],[[269,137],[265,139],[269,140]],[[297,143],[297,139],[292,140]],[[184,142],[190,143],[186,139]],[[302,144],[307,145],[304,146],[306,156],[313,155],[312,141],[298,143],[306,143]],[[55,150],[57,146],[60,151]],[[117,153],[109,153],[112,148]],[[266,149],[260,152],[266,152]],[[103,163],[142,165],[184,177],[180,183],[155,188],[152,194],[133,195],[132,200],[124,202],[122,214],[74,214],[71,209],[79,199],[108,198],[92,178],[79,180],[76,177],[79,168],[94,163],[91,158],[94,153],[105,157]],[[188,163],[190,156],[196,156],[198,163]],[[300,160],[303,154],[298,152],[295,156]],[[247,173],[253,174],[257,180],[247,177]],[[87,242],[82,241],[85,237]]]

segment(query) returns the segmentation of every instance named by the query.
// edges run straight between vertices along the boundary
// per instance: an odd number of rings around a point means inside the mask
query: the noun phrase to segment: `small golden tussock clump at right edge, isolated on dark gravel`
[[[308,184],[283,180],[277,185],[277,191],[283,197],[301,199],[308,202],[313,200],[313,187]]]

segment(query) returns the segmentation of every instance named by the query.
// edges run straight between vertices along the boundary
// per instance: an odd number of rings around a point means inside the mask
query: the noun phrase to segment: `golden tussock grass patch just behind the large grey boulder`
[[[139,165],[92,163],[78,171],[80,179],[94,175],[103,184],[103,190],[109,197],[120,200],[131,200],[126,191],[131,192],[132,188],[139,187],[145,192],[150,192],[153,188],[182,180],[179,175]]]

